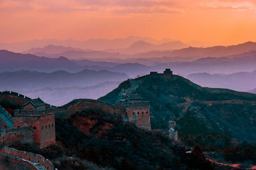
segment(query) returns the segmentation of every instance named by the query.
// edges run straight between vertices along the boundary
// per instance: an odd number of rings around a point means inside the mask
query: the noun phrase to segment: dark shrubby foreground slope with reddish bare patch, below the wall
[[[186,155],[184,146],[161,132],[138,129],[97,110],[56,118],[56,143],[43,150],[12,147],[40,153],[58,169],[213,169],[202,151]]]

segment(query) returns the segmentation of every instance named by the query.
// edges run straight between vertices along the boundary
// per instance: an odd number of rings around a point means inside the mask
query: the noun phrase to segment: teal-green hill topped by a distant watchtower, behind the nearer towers
[[[115,103],[122,89],[150,101],[152,129],[167,131],[172,120],[180,138],[202,135],[202,145],[209,134],[222,134],[229,142],[256,140],[255,94],[204,88],[181,76],[157,74],[124,81],[100,100]]]

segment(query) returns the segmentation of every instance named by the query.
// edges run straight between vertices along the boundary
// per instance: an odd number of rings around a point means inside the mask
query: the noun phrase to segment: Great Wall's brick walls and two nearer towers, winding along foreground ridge
[[[0,92],[1,103],[12,104],[17,108],[31,100],[16,92]],[[35,141],[40,148],[52,145],[55,143],[54,117],[68,118],[82,110],[104,111],[138,127],[150,129],[150,106],[148,102],[142,101],[109,104],[93,99],[75,99],[63,106],[51,106],[43,111],[15,110],[13,115],[0,106],[0,169],[54,169],[52,163],[42,155],[8,148],[8,145]]]

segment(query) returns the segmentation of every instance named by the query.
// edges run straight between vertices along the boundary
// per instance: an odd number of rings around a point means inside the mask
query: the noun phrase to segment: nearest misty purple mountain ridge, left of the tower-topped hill
[[[42,88],[88,87],[105,81],[124,81],[127,74],[110,71],[93,71],[84,69],[77,73],[54,71],[40,73],[37,71],[15,71],[0,73],[1,90],[36,90]]]

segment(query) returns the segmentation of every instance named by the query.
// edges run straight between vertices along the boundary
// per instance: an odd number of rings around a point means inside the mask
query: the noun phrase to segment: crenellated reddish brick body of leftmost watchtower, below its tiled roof
[[[31,127],[33,143],[40,148],[56,143],[54,111],[15,110],[13,127]]]

